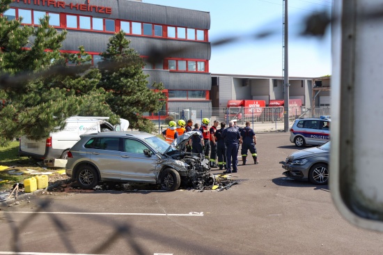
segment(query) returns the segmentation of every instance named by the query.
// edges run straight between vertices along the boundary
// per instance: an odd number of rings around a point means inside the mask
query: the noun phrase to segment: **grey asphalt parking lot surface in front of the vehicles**
[[[346,222],[327,185],[282,175],[289,135],[257,134],[260,164],[240,166],[229,190],[58,192],[3,207],[0,254],[382,254],[383,234]]]

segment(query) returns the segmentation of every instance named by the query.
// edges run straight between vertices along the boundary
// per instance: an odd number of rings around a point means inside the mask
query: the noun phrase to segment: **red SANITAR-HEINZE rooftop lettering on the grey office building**
[[[81,10],[84,12],[95,12],[95,13],[107,13],[111,14],[111,7],[105,6],[92,6],[89,4],[89,0],[87,3],[65,3],[64,1],[56,1],[56,0],[13,0],[14,2],[22,2],[25,4],[33,4],[35,6],[50,6],[56,8],[70,8]]]

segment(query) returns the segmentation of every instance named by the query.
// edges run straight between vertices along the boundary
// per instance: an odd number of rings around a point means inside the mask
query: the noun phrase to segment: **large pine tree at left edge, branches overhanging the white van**
[[[10,2],[0,0],[1,13]],[[61,56],[58,50],[66,31],[58,33],[49,26],[49,17],[38,27],[22,26],[21,21],[0,17],[1,77],[31,77],[21,86],[0,88],[0,146],[22,135],[46,138],[73,115],[110,116],[116,123],[118,116],[106,104],[111,93],[97,87],[100,71],[86,65],[90,56],[84,47],[79,47],[79,54]],[[77,66],[66,66],[67,60]]]

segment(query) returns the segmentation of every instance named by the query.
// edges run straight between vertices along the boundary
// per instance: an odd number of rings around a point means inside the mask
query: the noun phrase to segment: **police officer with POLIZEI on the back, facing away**
[[[226,167],[228,168],[224,173],[231,173],[231,164],[233,163],[233,173],[237,173],[237,155],[239,148],[239,140],[241,137],[240,131],[233,127],[233,121],[228,123],[228,128],[222,132],[222,137],[225,139],[226,144]]]

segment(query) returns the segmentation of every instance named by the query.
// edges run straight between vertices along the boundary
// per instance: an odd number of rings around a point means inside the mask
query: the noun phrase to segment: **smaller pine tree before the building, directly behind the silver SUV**
[[[101,54],[100,71],[102,79],[100,87],[112,93],[107,99],[112,111],[121,118],[130,121],[133,128],[153,132],[153,123],[143,118],[143,112],[158,111],[164,104],[165,96],[160,93],[164,89],[162,83],[152,84],[148,88],[149,75],[143,73],[143,59],[132,48],[125,32],[120,31],[109,39],[107,50]]]

